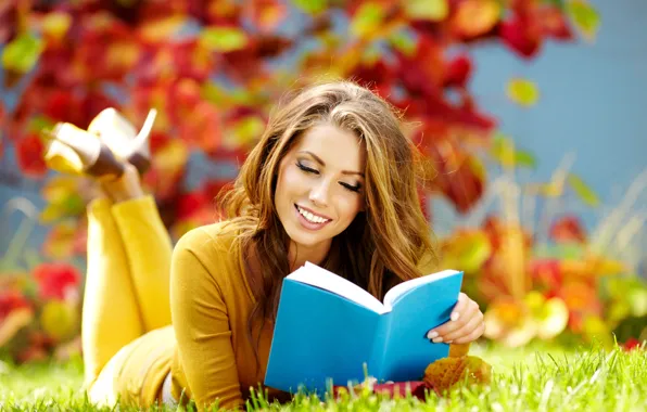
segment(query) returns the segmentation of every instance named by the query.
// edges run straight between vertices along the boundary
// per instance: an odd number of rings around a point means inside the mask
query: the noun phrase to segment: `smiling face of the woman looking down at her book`
[[[290,239],[330,247],[364,208],[366,153],[359,139],[332,125],[310,128],[279,165],[275,206]]]

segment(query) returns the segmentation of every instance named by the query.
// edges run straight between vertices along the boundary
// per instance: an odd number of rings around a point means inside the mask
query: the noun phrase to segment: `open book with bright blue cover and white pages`
[[[369,376],[420,381],[448,356],[427,333],[449,320],[462,272],[444,270],[403,282],[381,302],[354,283],[307,262],[283,280],[265,385],[325,392]]]

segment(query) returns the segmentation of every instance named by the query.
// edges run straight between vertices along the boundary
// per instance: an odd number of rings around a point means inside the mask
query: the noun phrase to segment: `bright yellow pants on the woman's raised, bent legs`
[[[170,368],[172,242],[152,197],[88,209],[81,338],[96,403],[150,405]]]

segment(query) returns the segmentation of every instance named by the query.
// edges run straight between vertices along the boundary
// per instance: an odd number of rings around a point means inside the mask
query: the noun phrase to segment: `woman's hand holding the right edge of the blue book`
[[[458,302],[452,312],[452,320],[429,331],[427,337],[434,344],[467,344],[477,340],[485,331],[483,313],[479,304],[466,294],[458,295]]]

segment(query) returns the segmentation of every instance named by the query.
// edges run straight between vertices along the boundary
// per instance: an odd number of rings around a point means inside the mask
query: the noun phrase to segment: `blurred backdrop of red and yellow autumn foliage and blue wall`
[[[0,351],[78,353],[90,181],[45,167],[42,130],[116,107],[151,139],[174,240],[288,89],[353,79],[404,113],[443,267],[518,347],[647,338],[643,0],[4,0]]]

